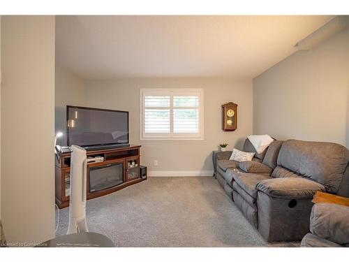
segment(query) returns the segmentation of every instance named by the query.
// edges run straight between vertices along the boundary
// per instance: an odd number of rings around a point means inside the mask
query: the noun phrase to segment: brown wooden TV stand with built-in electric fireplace
[[[105,196],[131,184],[143,181],[144,179],[140,177],[140,147],[140,145],[129,145],[128,147],[88,151],[87,157],[102,156],[104,161],[87,163],[87,200]],[[69,205],[70,153],[61,154],[55,159],[56,203],[59,208],[66,208]],[[108,172],[107,168],[109,167],[114,167],[111,172],[119,170],[117,171],[118,173],[115,173],[119,175],[122,182],[114,187],[93,191],[94,189],[90,184],[92,181],[90,172],[93,173],[94,180],[98,180],[98,171],[96,173],[95,170],[103,170],[102,176]]]

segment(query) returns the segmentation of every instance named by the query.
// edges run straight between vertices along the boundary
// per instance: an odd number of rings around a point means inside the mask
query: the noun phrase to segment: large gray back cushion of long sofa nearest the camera
[[[336,143],[287,140],[281,146],[278,166],[323,184],[336,193],[349,161],[346,147]]]

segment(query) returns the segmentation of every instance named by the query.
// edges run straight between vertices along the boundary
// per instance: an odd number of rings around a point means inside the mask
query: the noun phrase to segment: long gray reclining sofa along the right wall
[[[248,139],[242,149],[255,152]],[[269,242],[301,240],[309,232],[316,191],[349,196],[349,152],[335,143],[274,140],[253,161],[216,154],[216,178]]]

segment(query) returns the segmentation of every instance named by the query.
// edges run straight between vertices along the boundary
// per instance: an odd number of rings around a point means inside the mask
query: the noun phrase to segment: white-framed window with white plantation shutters
[[[141,140],[202,140],[202,89],[140,89]]]

